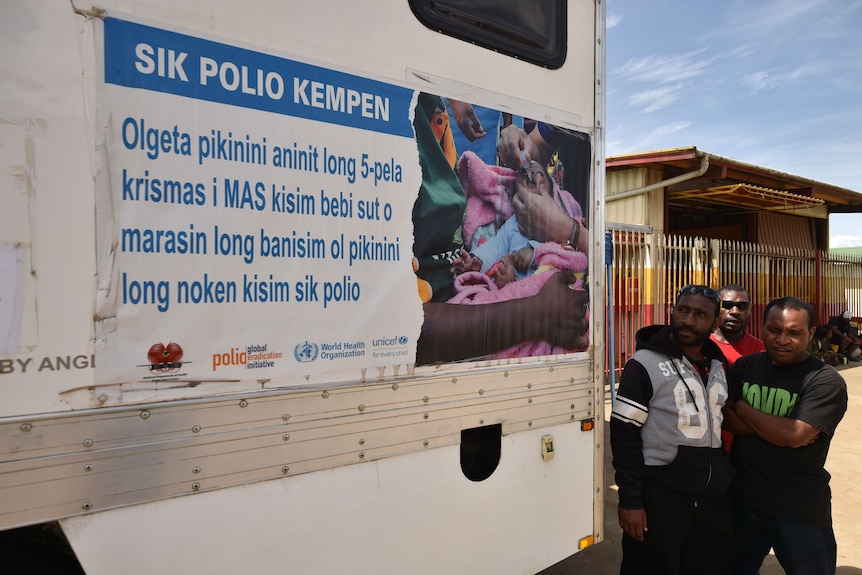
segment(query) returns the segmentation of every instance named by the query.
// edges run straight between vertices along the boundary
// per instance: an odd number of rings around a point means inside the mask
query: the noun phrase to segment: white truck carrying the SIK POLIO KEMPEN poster
[[[16,562],[535,573],[601,540],[600,0],[0,22]]]

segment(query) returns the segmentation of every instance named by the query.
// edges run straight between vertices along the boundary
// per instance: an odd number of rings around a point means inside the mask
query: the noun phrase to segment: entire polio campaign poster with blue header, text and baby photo
[[[588,346],[587,134],[141,23],[104,29],[97,384],[354,381],[417,356]],[[535,131],[547,156],[500,165],[505,130]],[[434,334],[457,349],[488,338],[469,307],[509,313],[559,271],[581,294],[568,346],[525,330],[487,353],[423,353],[439,305],[461,306]]]

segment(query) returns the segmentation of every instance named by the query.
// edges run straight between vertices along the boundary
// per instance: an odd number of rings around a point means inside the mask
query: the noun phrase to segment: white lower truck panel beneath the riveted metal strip
[[[549,462],[543,434],[555,438]],[[592,437],[576,425],[504,437],[500,467],[481,483],[461,475],[453,446],[63,527],[91,575],[266,573],[273,564],[283,573],[532,574],[592,532],[592,493],[573,488],[592,482],[578,455]]]

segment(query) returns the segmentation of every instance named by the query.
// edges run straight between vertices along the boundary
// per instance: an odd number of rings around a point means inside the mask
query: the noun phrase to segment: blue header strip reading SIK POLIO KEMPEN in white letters
[[[413,137],[407,88],[116,18],[105,82]]]

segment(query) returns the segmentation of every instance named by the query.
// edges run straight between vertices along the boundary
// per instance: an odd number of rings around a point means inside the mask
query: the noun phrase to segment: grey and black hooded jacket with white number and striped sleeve
[[[643,479],[693,496],[723,494],[733,467],[721,448],[727,399],[724,356],[703,345],[706,383],[671,339],[670,326],[637,333],[611,413],[611,447],[620,506],[643,507]]]

